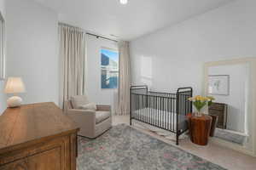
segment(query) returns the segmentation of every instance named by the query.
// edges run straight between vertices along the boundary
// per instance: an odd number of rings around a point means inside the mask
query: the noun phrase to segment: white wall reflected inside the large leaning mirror
[[[245,132],[247,112],[246,101],[249,84],[249,65],[220,65],[212,66],[209,75],[230,75],[230,94],[212,95],[218,103],[228,105],[227,129]]]

